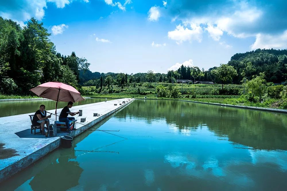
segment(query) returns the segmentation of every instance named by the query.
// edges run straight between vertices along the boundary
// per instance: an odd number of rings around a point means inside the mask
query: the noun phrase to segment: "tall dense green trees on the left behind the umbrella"
[[[21,28],[0,17],[0,93],[29,94],[31,88],[49,81],[79,88],[79,72],[90,64],[74,52],[57,53],[50,35],[34,18]]]

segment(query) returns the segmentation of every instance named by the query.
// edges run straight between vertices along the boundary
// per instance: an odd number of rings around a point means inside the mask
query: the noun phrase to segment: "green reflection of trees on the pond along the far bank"
[[[165,121],[184,135],[207,126],[219,137],[254,149],[287,150],[287,115],[183,101],[136,100],[116,117]]]

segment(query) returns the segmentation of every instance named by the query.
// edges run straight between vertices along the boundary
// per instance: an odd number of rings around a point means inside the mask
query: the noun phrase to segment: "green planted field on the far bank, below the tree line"
[[[83,93],[90,97],[141,99],[146,97],[147,99],[183,99],[207,103],[287,109],[286,100],[274,99],[268,97],[267,94],[263,96],[263,103],[259,101],[249,101],[247,99],[247,92],[243,85],[227,84],[224,85],[224,90],[221,90],[221,84],[172,84],[172,86],[176,87],[180,92],[180,95],[177,98],[157,96],[158,88],[161,86],[168,88],[168,86],[171,86],[171,84],[152,83],[152,87],[149,87],[148,83],[137,83],[135,84],[135,87],[122,87],[114,85],[112,91],[111,88],[108,89],[107,87],[103,87],[101,91],[100,88],[96,89],[95,86],[86,86],[82,88],[84,89]],[[243,92],[245,92],[245,94]]]

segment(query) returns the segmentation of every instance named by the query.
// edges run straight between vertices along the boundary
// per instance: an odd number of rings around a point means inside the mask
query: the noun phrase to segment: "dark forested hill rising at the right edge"
[[[240,83],[246,77],[265,72],[267,82],[279,83],[286,81],[287,77],[287,50],[257,49],[246,53],[234,54],[228,65],[234,66],[238,76],[233,83]]]

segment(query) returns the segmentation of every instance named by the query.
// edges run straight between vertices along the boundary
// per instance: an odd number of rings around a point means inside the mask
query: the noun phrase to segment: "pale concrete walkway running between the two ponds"
[[[77,123],[75,127],[76,129],[88,129],[89,127],[85,125],[95,125],[112,113],[125,107],[133,100],[134,99],[124,98],[74,106],[70,109],[71,112],[76,112],[80,109],[83,110],[81,117],[78,115],[73,116],[77,119],[77,122],[80,122],[81,118],[86,117],[86,122],[83,123],[84,125]],[[123,101],[126,101],[126,103],[123,104]],[[55,113],[55,110],[49,110],[48,112]],[[57,115],[59,115],[61,109],[58,109],[57,112]],[[98,113],[100,116],[94,117],[94,113]],[[0,118],[0,182],[11,177],[20,170],[23,170],[41,157],[44,157],[47,153],[59,147],[59,135],[75,137],[84,132],[63,132],[58,133],[56,137],[45,137],[44,135],[40,135],[40,133],[36,133],[36,135],[34,135],[34,131],[33,134],[31,134],[31,121],[28,115],[33,114],[34,113],[27,113]],[[54,121],[55,115],[52,115],[50,118],[50,124],[54,124]],[[36,132],[39,132],[39,129],[37,129]]]

